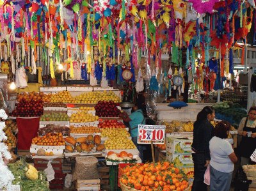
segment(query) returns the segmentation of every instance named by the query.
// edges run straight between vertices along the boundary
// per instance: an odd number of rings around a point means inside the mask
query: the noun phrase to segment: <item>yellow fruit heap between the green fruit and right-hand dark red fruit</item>
[[[93,121],[98,121],[99,116],[93,116],[93,114],[87,111],[79,111],[71,114],[70,123],[88,123]]]

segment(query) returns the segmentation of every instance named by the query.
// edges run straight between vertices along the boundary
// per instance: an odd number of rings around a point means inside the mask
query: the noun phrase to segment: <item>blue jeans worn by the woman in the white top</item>
[[[210,165],[210,191],[229,191],[232,172],[220,172]]]

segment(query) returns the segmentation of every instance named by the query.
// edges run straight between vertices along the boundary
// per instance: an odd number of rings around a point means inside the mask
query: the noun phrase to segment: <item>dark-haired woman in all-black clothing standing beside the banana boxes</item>
[[[207,190],[204,173],[210,162],[209,141],[213,137],[214,127],[211,125],[215,117],[212,107],[206,106],[197,115],[193,130],[192,157],[194,162],[194,181],[192,191]]]

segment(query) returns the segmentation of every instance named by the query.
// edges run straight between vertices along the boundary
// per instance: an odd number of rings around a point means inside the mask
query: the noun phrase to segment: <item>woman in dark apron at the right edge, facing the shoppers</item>
[[[251,107],[248,117],[241,119],[237,132],[242,136],[241,165],[250,164],[250,156],[256,148],[256,107]]]

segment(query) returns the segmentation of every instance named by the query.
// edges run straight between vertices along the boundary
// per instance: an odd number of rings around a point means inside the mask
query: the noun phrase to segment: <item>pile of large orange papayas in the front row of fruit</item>
[[[95,151],[103,151],[105,146],[101,144],[100,135],[88,135],[87,137],[66,137],[66,153],[95,153]]]

